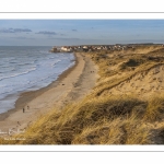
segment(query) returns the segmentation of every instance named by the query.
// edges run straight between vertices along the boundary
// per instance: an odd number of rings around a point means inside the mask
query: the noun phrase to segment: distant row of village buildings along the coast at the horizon
[[[96,45],[96,46],[62,46],[52,47],[51,52],[72,52],[72,51],[97,51],[97,50],[124,50],[133,48],[131,45]]]

